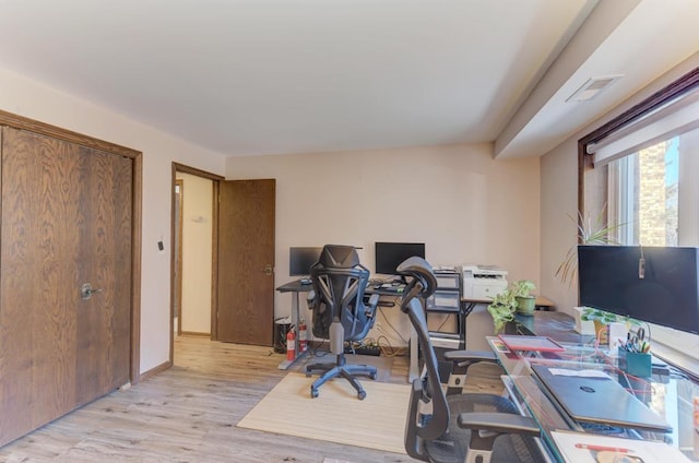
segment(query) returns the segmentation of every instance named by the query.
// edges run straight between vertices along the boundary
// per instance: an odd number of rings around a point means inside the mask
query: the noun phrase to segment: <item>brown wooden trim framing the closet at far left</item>
[[[110,154],[132,159],[132,203],[131,203],[131,313],[129,380],[138,384],[141,380],[141,253],[142,253],[142,198],[143,198],[143,153],[130,147],[121,146],[82,133],[62,129],[57,126],[40,122],[12,112],[0,110],[0,124],[14,129],[26,130],[40,135],[76,143],[83,146],[100,150]]]

